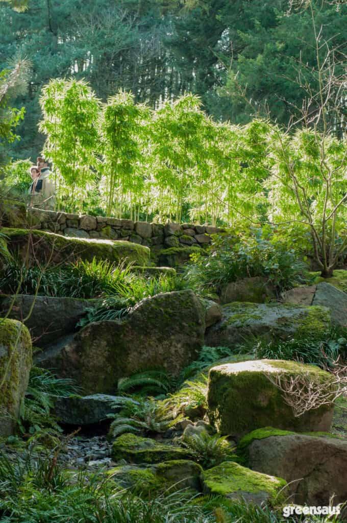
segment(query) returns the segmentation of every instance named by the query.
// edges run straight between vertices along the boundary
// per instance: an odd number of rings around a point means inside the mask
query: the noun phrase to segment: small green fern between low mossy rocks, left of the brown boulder
[[[191,452],[191,456],[203,469],[211,469],[223,461],[232,461],[235,458],[233,448],[225,436],[202,433],[184,439],[182,442]]]

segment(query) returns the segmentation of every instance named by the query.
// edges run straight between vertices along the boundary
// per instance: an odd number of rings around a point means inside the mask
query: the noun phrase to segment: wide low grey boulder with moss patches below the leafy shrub
[[[330,311],[282,303],[228,303],[221,322],[206,332],[206,345],[235,347],[245,339],[321,338],[330,326]]]

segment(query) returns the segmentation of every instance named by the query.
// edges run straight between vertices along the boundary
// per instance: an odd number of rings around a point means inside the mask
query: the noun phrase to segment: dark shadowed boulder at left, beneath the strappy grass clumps
[[[25,318],[25,325],[35,340],[34,345],[44,347],[61,336],[75,332],[76,323],[84,316],[86,309],[101,302],[19,294],[0,297],[0,315],[10,310],[9,317],[15,320]]]

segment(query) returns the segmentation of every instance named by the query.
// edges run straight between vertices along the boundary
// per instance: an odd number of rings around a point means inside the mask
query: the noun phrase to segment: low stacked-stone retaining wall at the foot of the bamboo
[[[210,225],[192,223],[134,222],[103,216],[79,216],[65,212],[28,210],[29,224],[35,229],[53,231],[65,236],[81,238],[103,238],[108,240],[126,240],[146,245],[151,251],[160,251],[179,247],[203,247],[211,242],[211,234],[223,232]]]

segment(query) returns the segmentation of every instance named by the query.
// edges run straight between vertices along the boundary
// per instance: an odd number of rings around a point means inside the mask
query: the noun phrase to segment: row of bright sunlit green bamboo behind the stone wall
[[[318,243],[345,228],[346,142],[315,128],[216,122],[191,94],[156,111],[122,90],[102,104],[76,80],[52,80],[40,103],[60,208],[94,198],[114,217],[296,223]]]

